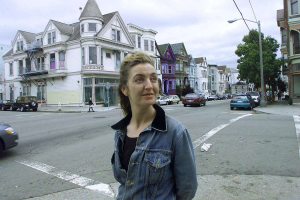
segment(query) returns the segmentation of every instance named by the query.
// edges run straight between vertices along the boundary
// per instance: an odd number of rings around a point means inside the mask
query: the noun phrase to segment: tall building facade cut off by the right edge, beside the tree
[[[277,11],[277,25],[281,34],[283,75],[288,76],[289,96],[300,102],[300,4],[298,0],[283,0]]]

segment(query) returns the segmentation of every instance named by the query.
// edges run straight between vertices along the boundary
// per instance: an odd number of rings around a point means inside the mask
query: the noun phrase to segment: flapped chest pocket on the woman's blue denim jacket
[[[171,157],[161,152],[147,152],[146,162],[146,184],[158,184],[164,176],[167,166],[171,163]]]

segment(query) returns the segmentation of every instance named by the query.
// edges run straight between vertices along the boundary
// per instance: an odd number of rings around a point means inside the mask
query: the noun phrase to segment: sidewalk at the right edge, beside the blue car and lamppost
[[[256,113],[268,113],[276,115],[300,115],[300,103],[289,105],[288,101],[280,100],[267,104],[266,107],[256,107],[253,109]]]

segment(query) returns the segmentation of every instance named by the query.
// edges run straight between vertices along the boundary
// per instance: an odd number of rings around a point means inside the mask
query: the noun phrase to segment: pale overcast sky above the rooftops
[[[101,13],[119,11],[125,24],[157,31],[158,44],[185,44],[194,58],[205,56],[210,64],[236,68],[234,51],[248,28],[233,0],[96,0]],[[0,0],[0,44],[10,45],[18,30],[39,33],[50,19],[63,23],[78,22],[79,7],[87,0]],[[245,19],[255,21],[249,0],[235,0]],[[280,43],[276,11],[283,0],[251,0],[265,36]],[[257,24],[248,22],[250,29]],[[277,57],[280,57],[278,53]]]

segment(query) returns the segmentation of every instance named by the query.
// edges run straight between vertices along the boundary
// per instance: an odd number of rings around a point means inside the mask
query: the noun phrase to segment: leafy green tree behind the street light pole
[[[264,85],[268,84],[272,88],[274,96],[274,88],[276,79],[279,78],[281,60],[276,59],[279,44],[276,39],[268,36],[262,40],[262,56],[264,66]],[[260,51],[259,51],[259,33],[257,30],[251,30],[248,35],[243,38],[243,44],[237,46],[235,54],[240,58],[238,62],[238,70],[240,80],[246,80],[248,83],[254,83],[256,89],[261,86],[260,83]],[[266,92],[266,91],[265,91]]]

